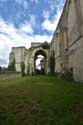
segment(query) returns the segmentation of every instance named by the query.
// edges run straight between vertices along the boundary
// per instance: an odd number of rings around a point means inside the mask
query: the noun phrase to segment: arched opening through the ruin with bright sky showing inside
[[[46,53],[38,50],[34,57],[35,74],[45,74],[46,68]]]

